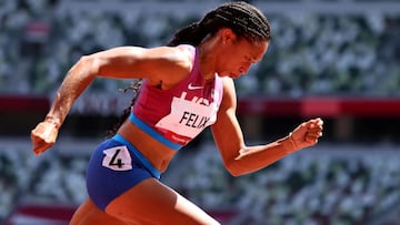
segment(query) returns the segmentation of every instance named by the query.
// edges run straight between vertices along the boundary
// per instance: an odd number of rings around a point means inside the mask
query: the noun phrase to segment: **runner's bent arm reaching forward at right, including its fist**
[[[313,119],[301,123],[288,136],[276,142],[246,146],[236,110],[233,81],[223,78],[223,98],[211,131],[223,164],[233,176],[261,170],[292,152],[312,146],[322,135],[322,120]]]

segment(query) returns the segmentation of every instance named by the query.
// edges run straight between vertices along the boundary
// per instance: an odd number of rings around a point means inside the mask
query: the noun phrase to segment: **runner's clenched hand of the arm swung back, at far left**
[[[59,129],[56,123],[43,121],[31,131],[31,141],[36,155],[51,147],[57,140]]]

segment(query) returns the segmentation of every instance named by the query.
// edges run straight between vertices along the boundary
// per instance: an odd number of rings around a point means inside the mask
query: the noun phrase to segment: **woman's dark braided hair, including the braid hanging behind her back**
[[[271,39],[270,23],[266,16],[250,3],[237,1],[221,4],[208,12],[200,21],[182,28],[167,45],[191,44],[197,47],[206,37],[214,34],[222,28],[230,28],[239,38],[244,38],[251,43]],[[124,89],[124,91],[132,90],[134,96],[131,104],[123,111],[119,122],[109,131],[108,137],[114,135],[129,116],[140,85],[141,80],[136,80],[131,86]]]

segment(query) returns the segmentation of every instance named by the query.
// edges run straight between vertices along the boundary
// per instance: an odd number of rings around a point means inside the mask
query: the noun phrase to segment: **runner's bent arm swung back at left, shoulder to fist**
[[[33,152],[39,155],[54,144],[73,102],[96,76],[143,78],[150,83],[173,85],[191,67],[191,54],[182,48],[120,47],[82,57],[67,73],[44,121],[31,131]]]

